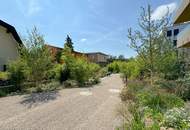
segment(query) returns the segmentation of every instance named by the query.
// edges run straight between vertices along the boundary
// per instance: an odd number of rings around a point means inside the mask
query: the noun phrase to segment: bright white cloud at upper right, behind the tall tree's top
[[[175,11],[177,7],[177,4],[174,3],[170,3],[170,4],[165,4],[165,5],[161,5],[159,7],[157,7],[154,12],[152,13],[152,19],[153,20],[160,20],[162,19],[164,16],[167,15],[167,13],[171,14]]]

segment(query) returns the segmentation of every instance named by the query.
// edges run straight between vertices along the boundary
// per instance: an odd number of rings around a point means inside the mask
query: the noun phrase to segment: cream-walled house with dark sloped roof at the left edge
[[[0,71],[5,71],[7,63],[18,58],[19,45],[22,41],[16,29],[0,20]]]

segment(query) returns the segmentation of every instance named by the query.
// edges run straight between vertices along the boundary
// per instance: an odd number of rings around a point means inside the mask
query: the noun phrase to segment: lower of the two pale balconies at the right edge
[[[190,25],[178,34],[177,47],[190,47]]]

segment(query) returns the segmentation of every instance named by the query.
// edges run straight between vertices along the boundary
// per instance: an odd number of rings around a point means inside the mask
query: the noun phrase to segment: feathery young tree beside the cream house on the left
[[[52,57],[45,46],[43,36],[36,27],[31,32],[28,32],[28,37],[24,39],[24,44],[26,47],[20,49],[20,59],[27,64],[29,69],[27,79],[35,82],[37,86],[46,79],[47,72],[52,69]]]

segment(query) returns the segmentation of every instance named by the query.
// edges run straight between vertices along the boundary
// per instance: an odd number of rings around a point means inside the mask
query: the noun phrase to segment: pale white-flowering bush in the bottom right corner
[[[173,108],[164,114],[162,125],[176,129],[190,128],[190,113],[184,108]]]

